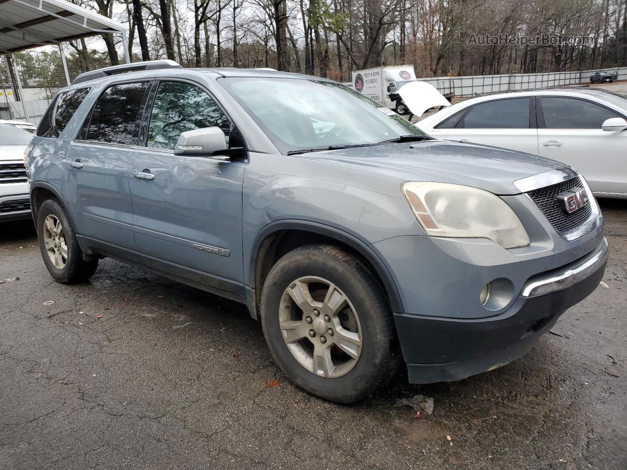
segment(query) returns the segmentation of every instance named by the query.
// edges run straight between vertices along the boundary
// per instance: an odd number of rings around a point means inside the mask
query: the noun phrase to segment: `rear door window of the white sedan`
[[[529,98],[512,98],[475,105],[464,118],[466,129],[528,129]]]

